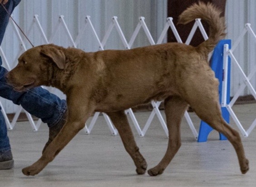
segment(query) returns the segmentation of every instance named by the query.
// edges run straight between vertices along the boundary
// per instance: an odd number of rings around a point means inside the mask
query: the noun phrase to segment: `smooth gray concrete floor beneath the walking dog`
[[[256,104],[235,105],[243,125],[255,119]],[[149,112],[135,113],[138,122],[146,123]],[[199,128],[199,119],[190,116]],[[131,123],[132,127],[133,124]],[[143,126],[143,125],[142,125]],[[236,125],[231,121],[231,126]],[[247,128],[247,126],[246,126]],[[155,117],[145,137],[133,127],[137,144],[148,162],[157,165],[167,148],[167,137]],[[240,173],[236,153],[231,144],[218,140],[212,132],[208,141],[197,143],[186,120],[182,121],[182,147],[166,171],[157,177],[137,175],[132,159],[118,136],[112,136],[100,116],[91,134],[84,131],[63,149],[52,163],[34,177],[26,177],[21,169],[34,163],[48,139],[47,125],[33,132],[28,122],[20,122],[9,131],[15,168],[0,171],[0,187],[254,187],[256,185],[256,129],[242,137],[250,170]]]

